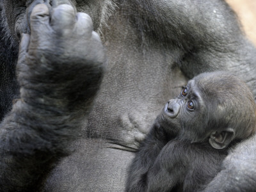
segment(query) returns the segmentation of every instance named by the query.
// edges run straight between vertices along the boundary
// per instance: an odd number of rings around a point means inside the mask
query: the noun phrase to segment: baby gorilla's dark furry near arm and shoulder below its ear
[[[198,191],[220,172],[227,156],[202,143],[169,141],[148,170],[147,191]]]

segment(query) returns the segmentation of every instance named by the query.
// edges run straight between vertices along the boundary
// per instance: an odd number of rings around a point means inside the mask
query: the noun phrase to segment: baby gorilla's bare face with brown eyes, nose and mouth
[[[193,142],[205,140],[207,106],[194,80],[182,89],[176,99],[169,100],[161,113],[161,125],[170,134]]]

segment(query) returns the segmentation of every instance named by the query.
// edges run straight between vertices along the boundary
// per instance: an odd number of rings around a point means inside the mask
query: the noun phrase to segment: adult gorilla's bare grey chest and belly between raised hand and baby
[[[172,68],[177,52],[153,43],[141,47],[137,31],[122,19],[109,20],[104,31],[108,69],[82,139],[54,170],[49,191],[56,188],[56,178],[70,191],[78,186],[84,191],[124,191],[134,151],[165,100],[186,83],[179,68]]]

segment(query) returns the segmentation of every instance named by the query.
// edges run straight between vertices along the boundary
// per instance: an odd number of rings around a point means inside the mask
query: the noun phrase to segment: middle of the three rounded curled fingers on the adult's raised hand
[[[51,26],[56,32],[63,33],[74,29],[76,24],[76,12],[68,4],[61,4],[54,8],[51,16]]]

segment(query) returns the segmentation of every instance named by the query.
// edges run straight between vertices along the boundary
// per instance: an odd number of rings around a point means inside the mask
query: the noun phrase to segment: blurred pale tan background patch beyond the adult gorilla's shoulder
[[[237,13],[248,38],[256,45],[256,0],[226,0]]]

